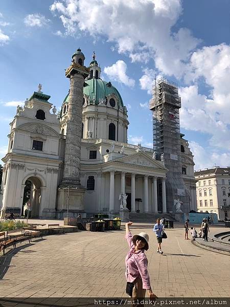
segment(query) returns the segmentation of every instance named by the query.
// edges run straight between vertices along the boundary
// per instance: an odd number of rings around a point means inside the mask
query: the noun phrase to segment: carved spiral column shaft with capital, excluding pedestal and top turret
[[[89,74],[88,69],[76,64],[66,70],[65,76],[70,78],[70,93],[68,98],[64,172],[61,185],[81,187],[80,183],[80,154],[82,129],[82,100],[84,78]]]

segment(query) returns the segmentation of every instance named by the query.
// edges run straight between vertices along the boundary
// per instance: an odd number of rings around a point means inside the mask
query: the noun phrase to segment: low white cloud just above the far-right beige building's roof
[[[219,153],[214,149],[205,149],[194,141],[191,141],[189,145],[194,155],[195,170],[212,168],[215,165],[220,167],[226,167],[230,165],[229,152]]]

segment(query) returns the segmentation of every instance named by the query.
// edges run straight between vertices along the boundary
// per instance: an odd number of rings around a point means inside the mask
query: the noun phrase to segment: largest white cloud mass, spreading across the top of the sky
[[[181,76],[184,61],[199,43],[188,29],[172,32],[182,12],[180,0],[98,0],[93,6],[84,0],[59,0],[50,10],[59,15],[67,35],[86,31],[105,36],[133,62],[155,57],[156,67],[169,75]]]

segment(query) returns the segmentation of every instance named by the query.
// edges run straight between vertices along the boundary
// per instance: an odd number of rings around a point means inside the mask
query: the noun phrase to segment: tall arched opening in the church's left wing
[[[30,177],[27,179],[25,185],[22,214],[25,214],[27,209],[30,211],[29,217],[39,217],[42,183],[39,178]]]

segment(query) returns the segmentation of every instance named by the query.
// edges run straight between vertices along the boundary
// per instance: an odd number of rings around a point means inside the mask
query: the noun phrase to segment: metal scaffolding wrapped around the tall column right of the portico
[[[180,155],[180,121],[181,100],[176,83],[165,78],[155,80],[150,109],[153,114],[153,150],[156,159],[164,153],[166,174],[167,211],[175,212],[176,201],[183,204],[183,212],[189,212],[189,194],[182,179]],[[159,187],[160,188],[160,187]]]

